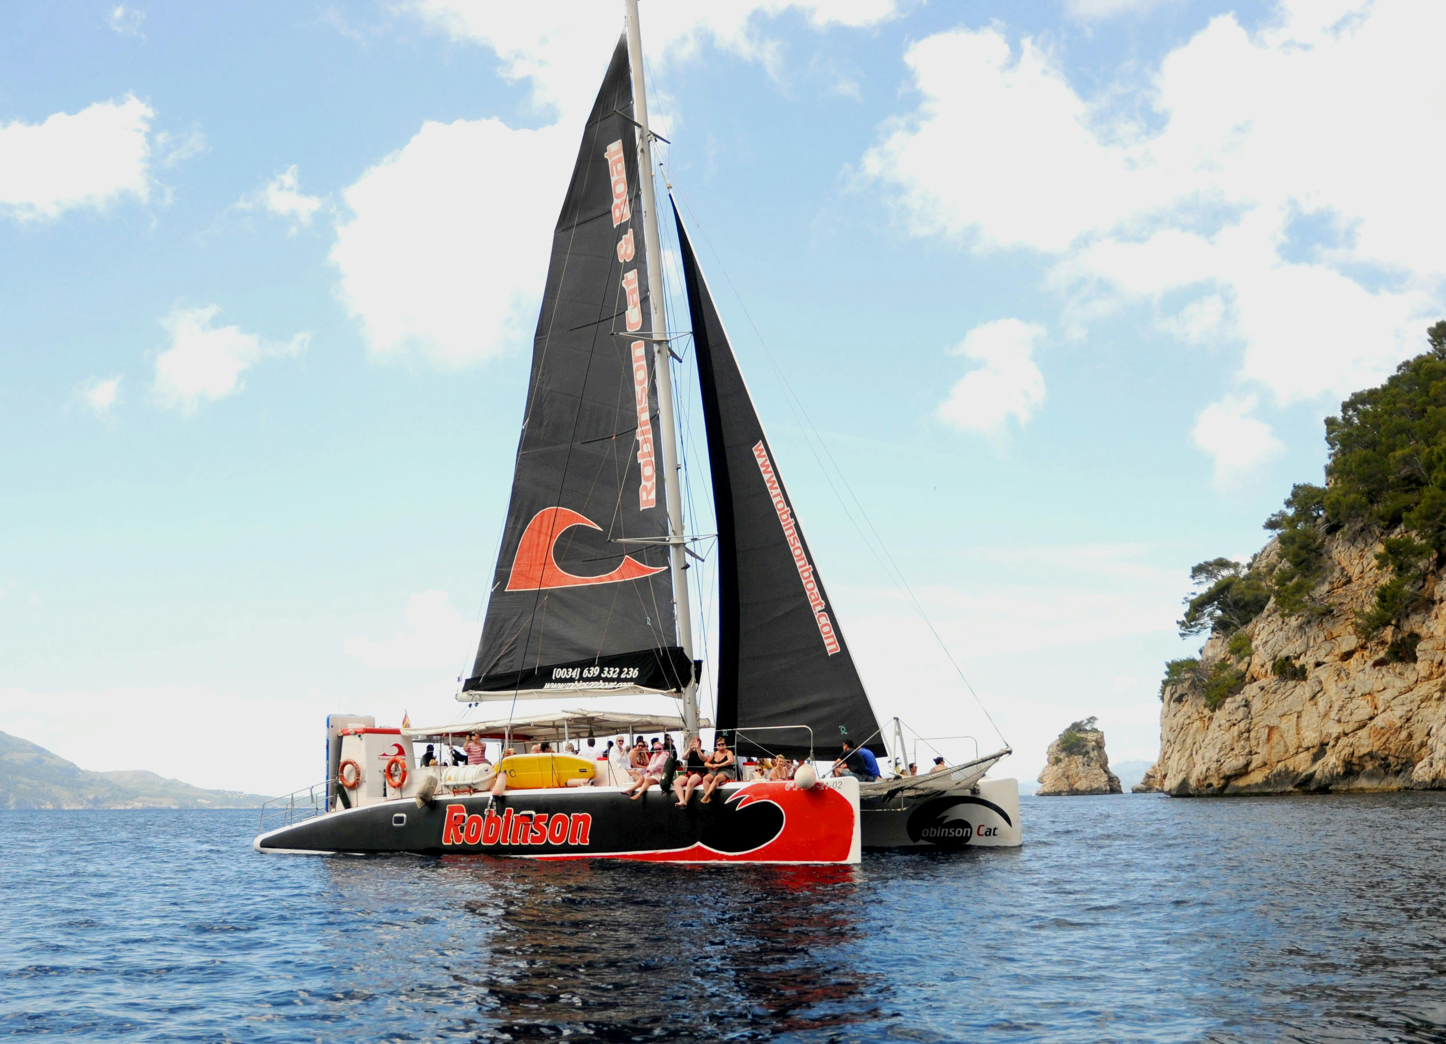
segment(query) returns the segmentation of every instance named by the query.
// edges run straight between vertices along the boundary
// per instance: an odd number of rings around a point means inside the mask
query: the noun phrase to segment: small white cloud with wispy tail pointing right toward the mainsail
[[[156,356],[155,393],[163,405],[194,414],[202,399],[239,392],[241,375],[262,359],[295,356],[311,341],[311,334],[296,334],[276,344],[240,327],[213,327],[220,311],[178,305],[161,321],[171,333],[171,346]]]

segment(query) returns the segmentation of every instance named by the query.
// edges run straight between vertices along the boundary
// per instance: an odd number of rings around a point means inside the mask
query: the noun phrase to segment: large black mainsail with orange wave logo
[[[512,502],[461,700],[678,691],[628,48],[552,236]],[[632,337],[629,334],[639,334]]]

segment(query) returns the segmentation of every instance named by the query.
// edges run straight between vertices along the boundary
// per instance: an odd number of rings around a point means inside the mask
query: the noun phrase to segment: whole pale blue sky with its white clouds
[[[455,678],[620,30],[620,0],[4,4],[0,730],[282,794],[328,713],[506,716]],[[642,33],[881,720],[1002,735],[1025,779],[1086,716],[1152,761],[1190,565],[1257,551],[1323,418],[1446,314],[1446,6],[643,0]]]

